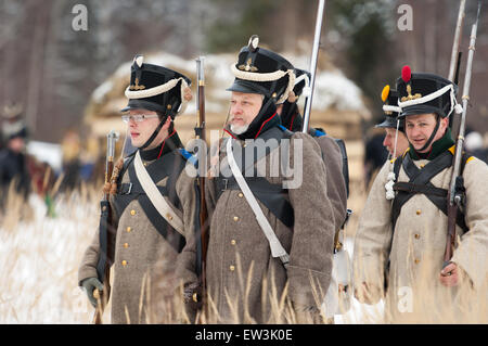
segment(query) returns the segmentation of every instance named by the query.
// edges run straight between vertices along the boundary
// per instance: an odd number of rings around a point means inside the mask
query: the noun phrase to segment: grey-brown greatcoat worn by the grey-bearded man
[[[247,145],[247,142],[236,141]],[[294,179],[298,182],[288,185],[287,190],[293,206],[293,228],[282,223],[258,200],[271,228],[290,254],[287,270],[279,258],[271,256],[268,240],[239,187],[219,191],[221,185],[217,185],[216,178],[207,179],[206,197],[211,221],[206,280],[209,309],[217,312],[219,322],[277,322],[282,316],[278,316],[280,311],[273,304],[280,303],[286,284],[286,298],[296,308],[320,306],[329,287],[335,220],[328,197],[326,169],[320,148],[310,136],[294,133],[288,143],[290,156],[286,157],[290,162],[285,165],[294,168],[293,177],[285,178],[281,170],[279,175],[271,172],[272,167],[282,163],[283,141],[252,165],[271,183],[283,185],[284,181]],[[219,163],[224,167],[221,172],[228,167],[226,156],[226,145],[221,144]],[[266,166],[261,166],[264,163]],[[266,171],[257,167],[266,167]],[[214,169],[211,174],[216,175]],[[183,249],[185,252],[184,281],[191,282],[195,280],[191,246]]]

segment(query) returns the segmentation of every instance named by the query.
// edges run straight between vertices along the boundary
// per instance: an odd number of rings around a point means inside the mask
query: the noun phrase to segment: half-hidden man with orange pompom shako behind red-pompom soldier
[[[385,86],[382,91],[383,111],[385,112],[385,119],[377,124],[375,128],[385,129],[385,139],[383,146],[388,150],[390,157],[395,158],[403,154],[409,148],[409,140],[404,134],[403,125],[397,124],[398,119],[398,92],[390,90],[389,86]],[[398,126],[397,126],[398,125]],[[398,131],[397,131],[398,128]]]

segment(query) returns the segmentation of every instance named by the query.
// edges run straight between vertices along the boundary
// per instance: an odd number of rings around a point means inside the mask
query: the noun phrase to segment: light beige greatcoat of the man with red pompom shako
[[[418,167],[428,161],[414,161]],[[387,162],[378,172],[360,217],[355,241],[355,286],[362,282],[386,292],[386,321],[393,322],[479,322],[487,307],[488,249],[488,167],[477,158],[466,163],[465,221],[470,231],[460,235],[452,261],[462,271],[462,285],[446,287],[439,274],[447,240],[447,217],[424,194],[415,194],[402,207],[391,232],[391,202],[386,200],[385,183],[390,171]],[[449,189],[452,167],[431,182]],[[409,181],[401,168],[398,181]],[[395,235],[393,235],[395,234]],[[387,259],[389,272],[386,272]],[[468,303],[471,298],[471,305]],[[371,298],[376,303],[380,296]]]

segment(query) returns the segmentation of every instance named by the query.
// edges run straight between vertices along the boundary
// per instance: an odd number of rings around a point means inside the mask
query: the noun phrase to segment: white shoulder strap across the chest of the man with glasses
[[[153,179],[151,179],[151,176],[142,164],[139,151],[136,153],[133,167],[136,168],[136,176],[138,177],[142,189],[146,193],[153,206],[160,214],[160,216],[163,216],[165,220],[168,221],[169,225],[171,225],[174,229],[176,229],[179,233],[181,233],[181,235],[184,236],[183,221],[171,209],[165,197],[163,197],[163,195],[160,194],[159,190],[157,190],[156,184],[154,183]]]

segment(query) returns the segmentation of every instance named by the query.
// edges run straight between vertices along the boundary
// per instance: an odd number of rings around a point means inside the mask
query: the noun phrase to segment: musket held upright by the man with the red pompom
[[[452,258],[453,248],[455,245],[455,219],[458,215],[458,209],[462,207],[464,203],[464,181],[463,177],[460,175],[461,170],[461,159],[463,155],[464,146],[464,132],[466,125],[466,112],[467,105],[470,103],[470,86],[471,86],[471,75],[473,71],[473,57],[476,44],[476,33],[478,29],[479,13],[481,11],[481,1],[478,1],[478,13],[476,16],[476,22],[473,24],[470,37],[470,47],[467,53],[467,64],[466,74],[464,77],[463,86],[463,113],[461,115],[461,121],[459,127],[459,134],[455,143],[454,153],[454,164],[452,169],[451,183],[448,191],[448,235],[446,241],[446,251],[444,255],[444,267],[446,267],[450,259]]]

